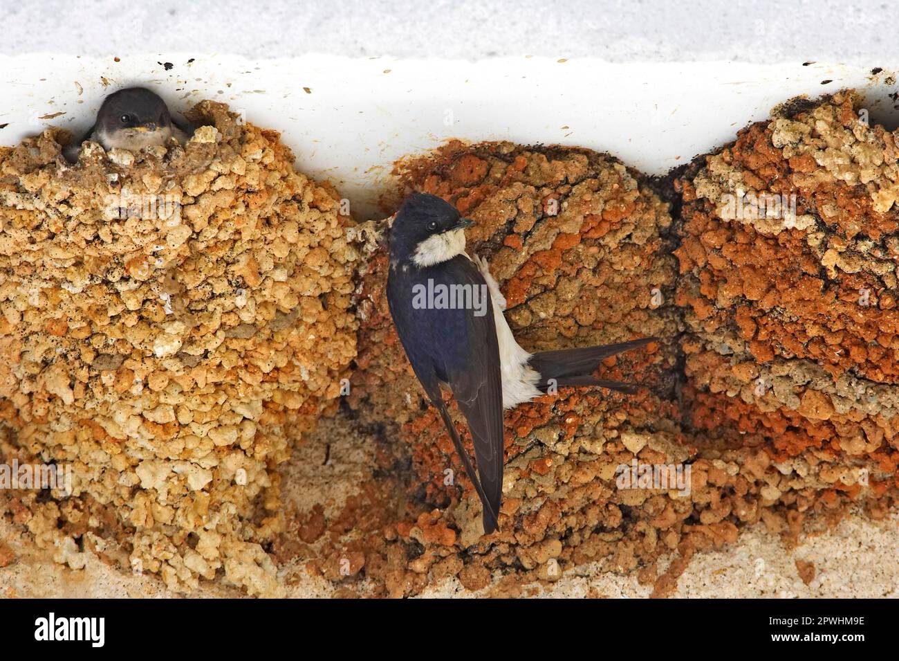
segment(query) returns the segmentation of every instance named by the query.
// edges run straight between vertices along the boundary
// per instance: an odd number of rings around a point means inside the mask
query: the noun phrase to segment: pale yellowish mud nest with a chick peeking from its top
[[[279,594],[276,468],[355,354],[349,219],[278,133],[191,120],[183,147],[77,165],[55,130],[0,149],[0,451],[74,477],[7,510],[73,566]]]

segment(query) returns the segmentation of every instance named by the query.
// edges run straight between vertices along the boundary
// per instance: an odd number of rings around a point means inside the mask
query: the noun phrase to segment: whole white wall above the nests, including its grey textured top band
[[[447,138],[581,145],[662,174],[797,94],[862,87],[872,118],[899,124],[899,21],[879,4],[85,6],[0,2],[0,143],[84,130],[122,85],[174,110],[218,99],[281,130],[298,167],[363,218],[397,158]]]

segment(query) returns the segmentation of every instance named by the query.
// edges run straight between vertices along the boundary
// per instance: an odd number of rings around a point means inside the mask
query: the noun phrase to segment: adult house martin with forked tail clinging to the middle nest
[[[528,353],[515,341],[506,301],[484,260],[465,252],[465,228],[449,202],[414,193],[390,229],[387,304],[415,376],[440,412],[484,506],[485,534],[497,527],[503,496],[503,409],[565,386],[633,393],[636,386],[592,373],[603,359],[643,346],[619,344]],[[477,474],[441,397],[452,390],[475,446]]]

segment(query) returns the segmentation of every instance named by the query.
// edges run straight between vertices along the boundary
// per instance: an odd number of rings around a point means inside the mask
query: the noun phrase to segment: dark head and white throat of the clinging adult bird
[[[390,228],[390,261],[418,267],[441,264],[465,252],[471,220],[436,195],[415,192],[405,199]]]

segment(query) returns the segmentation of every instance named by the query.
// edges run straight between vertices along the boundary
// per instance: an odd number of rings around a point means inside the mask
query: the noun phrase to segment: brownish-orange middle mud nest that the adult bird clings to
[[[476,221],[468,252],[487,258],[525,349],[663,340],[601,368],[606,378],[644,384],[636,396],[560,389],[507,412],[501,531],[481,538],[481,505],[389,319],[385,248],[369,244],[351,402],[366,419],[392,430],[398,423],[412,466],[411,517],[398,540],[423,545],[405,584],[393,580],[388,591],[421,587],[432,566],[476,588],[496,569],[522,583],[592,560],[619,570],[652,565],[658,548],[679,538],[648,522],[686,518],[689,503],[673,514],[666,496],[621,491],[614,476],[637,453],[663,463],[690,457],[672,398],[679,321],[668,204],[615,159],[583,149],[454,144],[407,165],[405,182]]]

